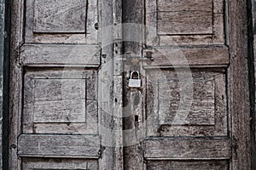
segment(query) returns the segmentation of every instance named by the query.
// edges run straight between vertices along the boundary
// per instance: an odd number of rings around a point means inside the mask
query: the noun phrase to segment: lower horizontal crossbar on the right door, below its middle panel
[[[162,159],[230,159],[227,138],[157,138],[144,140],[146,158]]]

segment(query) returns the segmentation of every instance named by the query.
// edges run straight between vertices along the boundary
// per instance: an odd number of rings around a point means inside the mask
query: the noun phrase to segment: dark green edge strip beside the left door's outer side
[[[0,43],[3,46],[2,56],[3,59],[3,170],[9,169],[9,47],[10,47],[10,26],[11,26],[11,5],[9,0],[0,0],[4,3],[4,20],[0,23],[4,25],[3,32],[0,33]]]

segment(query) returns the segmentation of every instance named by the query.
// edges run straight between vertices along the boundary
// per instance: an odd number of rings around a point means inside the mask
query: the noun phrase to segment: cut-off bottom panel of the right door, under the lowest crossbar
[[[147,170],[175,169],[175,170],[227,170],[229,161],[148,161]]]

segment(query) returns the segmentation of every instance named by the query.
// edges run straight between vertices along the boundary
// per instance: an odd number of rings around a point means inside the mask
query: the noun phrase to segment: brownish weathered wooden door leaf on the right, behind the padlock
[[[244,18],[234,14],[245,6],[223,0],[132,3],[138,8],[127,10],[125,21],[145,24],[138,29],[144,37],[125,49],[144,59],[124,68],[139,70],[143,86],[125,94],[124,127],[134,131],[134,138],[124,138],[125,169],[252,168],[251,158],[242,156],[252,157],[249,108],[236,102],[245,105],[240,94],[249,92],[241,88],[247,76],[240,77],[247,70],[239,54]]]

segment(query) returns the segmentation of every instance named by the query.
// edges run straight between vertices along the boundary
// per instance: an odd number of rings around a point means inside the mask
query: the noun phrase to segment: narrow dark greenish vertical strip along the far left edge
[[[0,169],[8,169],[10,3],[0,0]]]

